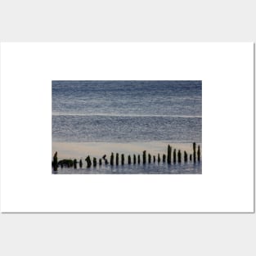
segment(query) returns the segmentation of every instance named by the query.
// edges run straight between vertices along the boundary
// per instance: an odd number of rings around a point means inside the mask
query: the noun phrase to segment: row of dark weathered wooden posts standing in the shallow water
[[[173,161],[172,161],[172,155],[173,155]],[[196,160],[198,162],[200,162],[200,146],[197,147],[196,150],[196,145],[195,142],[193,143],[193,154],[189,155],[189,160],[195,163]],[[188,161],[188,154],[186,153],[186,150],[184,151],[183,154],[184,157],[184,162],[186,163]],[[115,158],[115,161],[114,161]],[[93,157],[92,160],[90,158],[90,156],[88,155],[88,157],[85,159],[85,161],[87,162],[87,167],[90,168],[91,166],[96,167],[97,166],[97,158]],[[103,155],[101,159],[99,159],[99,165],[102,165],[102,162],[105,162],[105,164],[110,164],[110,165],[119,165],[119,153],[116,153],[114,156],[114,153],[111,153],[110,155],[110,163],[108,161],[108,159],[106,159],[106,155]],[[160,163],[161,162],[161,158],[160,158],[160,154],[157,155],[157,159],[156,156],[153,155],[153,159],[152,156],[150,154],[148,154],[148,159],[146,161],[146,150],[143,151],[142,154],[142,164],[146,164],[146,162],[148,162],[148,164],[150,164],[151,162],[155,163],[155,162]],[[166,155],[163,154],[162,157],[162,161],[163,163],[166,163]],[[167,163],[168,164],[176,164],[177,163],[182,163],[182,152],[181,150],[177,150],[174,149],[172,152],[172,147],[168,145],[168,149],[167,149]],[[121,155],[121,161],[120,161],[121,165],[124,165],[124,154]],[[128,164],[132,164],[132,157],[131,155],[128,155]],[[141,155],[133,155],[133,164],[141,164]],[[61,165],[61,168],[65,165],[68,167],[73,167],[77,168],[78,165],[78,161],[77,159],[74,160],[70,160],[70,159],[63,159],[61,161],[58,162],[57,159],[57,152],[55,153],[55,155],[53,156],[53,161],[52,161],[52,167],[53,169],[56,171],[58,166]],[[82,168],[83,167],[83,162],[82,159],[79,160],[79,167]]]

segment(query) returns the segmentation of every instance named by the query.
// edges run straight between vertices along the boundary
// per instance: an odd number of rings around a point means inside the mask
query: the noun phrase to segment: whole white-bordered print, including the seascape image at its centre
[[[1,43],[1,211],[254,212],[254,43]]]

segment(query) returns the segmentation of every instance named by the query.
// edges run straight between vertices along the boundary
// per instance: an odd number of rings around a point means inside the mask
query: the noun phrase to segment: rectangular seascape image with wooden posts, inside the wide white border
[[[52,174],[201,174],[202,81],[52,81]]]

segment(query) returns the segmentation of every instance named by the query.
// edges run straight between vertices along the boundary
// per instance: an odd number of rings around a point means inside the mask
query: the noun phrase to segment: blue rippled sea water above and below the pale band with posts
[[[53,142],[201,144],[201,137],[201,81],[52,81]],[[201,173],[201,163],[104,164],[58,173]]]

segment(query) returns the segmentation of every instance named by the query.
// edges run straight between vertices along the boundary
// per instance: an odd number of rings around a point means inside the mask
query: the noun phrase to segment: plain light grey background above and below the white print
[[[256,42],[255,3],[1,0],[0,41]],[[249,256],[255,237],[255,214],[0,214],[5,256]]]

